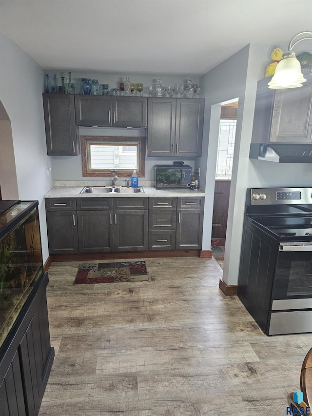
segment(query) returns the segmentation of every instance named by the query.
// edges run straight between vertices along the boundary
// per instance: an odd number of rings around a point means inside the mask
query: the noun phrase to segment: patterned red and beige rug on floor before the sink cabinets
[[[145,261],[81,263],[74,284],[138,282],[148,280]]]

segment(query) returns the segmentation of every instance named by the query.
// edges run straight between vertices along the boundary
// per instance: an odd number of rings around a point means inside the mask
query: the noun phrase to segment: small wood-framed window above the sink
[[[145,175],[145,138],[81,136],[82,176]]]

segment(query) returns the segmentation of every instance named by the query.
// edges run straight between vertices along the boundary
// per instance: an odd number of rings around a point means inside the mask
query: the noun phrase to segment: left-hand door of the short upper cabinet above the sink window
[[[76,122],[85,127],[111,127],[111,97],[75,95]]]

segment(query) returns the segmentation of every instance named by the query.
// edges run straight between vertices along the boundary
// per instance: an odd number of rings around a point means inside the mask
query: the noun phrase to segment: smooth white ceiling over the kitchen
[[[201,76],[303,30],[312,0],[0,0],[0,31],[44,69]]]

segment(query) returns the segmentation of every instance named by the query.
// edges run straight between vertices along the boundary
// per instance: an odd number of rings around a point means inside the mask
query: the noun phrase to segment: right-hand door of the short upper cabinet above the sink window
[[[111,97],[113,127],[146,127],[147,98]]]

